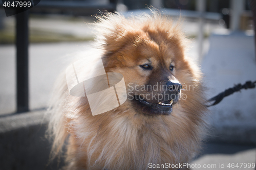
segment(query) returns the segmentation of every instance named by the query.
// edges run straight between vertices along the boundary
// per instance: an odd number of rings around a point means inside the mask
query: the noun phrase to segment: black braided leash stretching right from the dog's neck
[[[237,85],[234,85],[234,87],[226,89],[225,91],[221,92],[220,94],[214,96],[213,98],[209,99],[209,102],[215,101],[213,104],[211,105],[206,105],[207,107],[210,106],[214,106],[217,105],[218,103],[220,103],[222,101],[223,98],[225,98],[226,96],[233,94],[234,92],[240,91],[241,89],[247,89],[247,88],[255,88],[256,86],[256,81],[251,82],[251,81],[247,81],[244,85],[241,85],[240,83]]]

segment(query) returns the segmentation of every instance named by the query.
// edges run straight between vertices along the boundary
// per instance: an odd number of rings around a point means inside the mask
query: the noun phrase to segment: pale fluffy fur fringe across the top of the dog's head
[[[125,42],[122,39],[125,36],[130,36],[141,30],[147,33],[149,30],[158,31],[168,38],[178,38],[182,46],[187,45],[189,40],[181,31],[183,22],[181,17],[174,23],[172,18],[162,15],[158,10],[154,8],[150,10],[151,14],[141,13],[136,16],[132,15],[128,19],[118,12],[103,13],[96,16],[97,22],[94,24],[97,31],[95,46],[108,52],[116,51],[124,45]],[[184,49],[186,50],[187,47]]]

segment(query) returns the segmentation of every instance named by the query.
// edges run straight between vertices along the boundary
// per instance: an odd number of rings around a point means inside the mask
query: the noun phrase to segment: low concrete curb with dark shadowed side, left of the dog
[[[45,138],[45,110],[0,117],[1,169],[58,169],[49,165],[51,142]],[[59,167],[61,167],[61,164]]]

